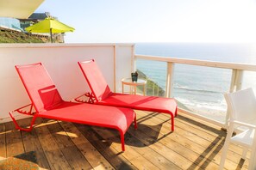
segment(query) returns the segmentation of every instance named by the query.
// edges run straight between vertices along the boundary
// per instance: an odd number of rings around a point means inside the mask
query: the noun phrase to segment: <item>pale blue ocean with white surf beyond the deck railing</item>
[[[256,44],[137,43],[135,54],[256,64]],[[137,59],[136,68],[165,89],[165,62]],[[232,70],[175,64],[172,97],[187,110],[224,122],[227,105],[223,94],[229,90],[231,75]],[[242,88],[249,87],[256,88],[256,73],[245,71]]]

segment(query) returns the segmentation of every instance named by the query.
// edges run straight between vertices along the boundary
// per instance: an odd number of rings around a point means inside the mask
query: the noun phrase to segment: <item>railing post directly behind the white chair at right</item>
[[[232,70],[232,76],[231,76],[231,83],[229,88],[229,93],[233,93],[237,90],[240,90],[242,88],[242,80],[243,80],[243,70]],[[228,126],[228,119],[229,119],[230,111],[227,110],[225,124]]]

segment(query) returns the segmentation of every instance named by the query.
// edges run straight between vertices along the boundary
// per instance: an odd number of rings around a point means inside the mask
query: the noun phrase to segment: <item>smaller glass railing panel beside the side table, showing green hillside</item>
[[[165,96],[166,68],[166,62],[136,59],[136,70],[139,73],[139,78],[147,79],[147,95]],[[138,87],[138,91],[141,92],[141,88]]]

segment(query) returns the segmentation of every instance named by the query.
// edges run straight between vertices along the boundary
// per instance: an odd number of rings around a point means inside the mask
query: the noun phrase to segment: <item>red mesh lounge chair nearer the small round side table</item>
[[[90,97],[89,102],[99,105],[122,106],[136,110],[168,113],[172,117],[172,131],[174,131],[174,116],[177,116],[177,103],[174,99],[113,93],[94,59],[78,62],[78,64],[91,88],[91,94],[86,94]],[[76,100],[80,101],[79,97]]]

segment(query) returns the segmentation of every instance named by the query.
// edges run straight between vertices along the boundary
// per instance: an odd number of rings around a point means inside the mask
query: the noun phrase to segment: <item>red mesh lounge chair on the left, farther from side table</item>
[[[19,65],[16,66],[16,70],[32,102],[32,104],[28,105],[30,106],[29,112],[23,110],[27,106],[22,106],[15,111],[9,112],[10,117],[16,124],[16,129],[32,131],[34,120],[38,117],[113,128],[120,132],[122,151],[125,150],[125,132],[133,121],[134,128],[137,128],[136,115],[132,109],[73,103],[62,100],[59,91],[41,63]],[[35,112],[32,112],[33,106]],[[32,115],[33,119],[30,127],[28,129],[20,127],[12,116],[13,112]]]

